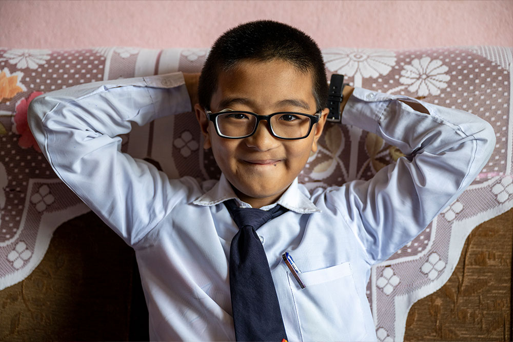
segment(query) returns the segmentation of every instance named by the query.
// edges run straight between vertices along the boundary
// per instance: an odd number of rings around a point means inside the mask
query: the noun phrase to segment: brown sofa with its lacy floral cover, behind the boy
[[[497,146],[472,185],[426,230],[372,269],[377,335],[391,340],[510,340],[513,249],[513,49],[322,49],[328,76],[479,115]],[[0,340],[147,340],[133,251],[69,190],[27,125],[37,95],[169,72],[199,72],[208,49],[0,48]],[[192,113],[134,126],[122,151],[170,177],[219,177]],[[403,154],[329,123],[300,182],[368,179]]]

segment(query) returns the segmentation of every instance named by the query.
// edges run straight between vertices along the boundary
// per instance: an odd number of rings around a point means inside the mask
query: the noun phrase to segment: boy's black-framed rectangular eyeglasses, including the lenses
[[[205,109],[208,119],[214,123],[219,136],[227,139],[247,138],[257,132],[261,120],[266,120],[271,135],[280,139],[295,140],[306,138],[314,124],[319,122],[322,111],[314,115],[297,112],[278,112],[258,115],[252,112],[223,109],[212,113]]]

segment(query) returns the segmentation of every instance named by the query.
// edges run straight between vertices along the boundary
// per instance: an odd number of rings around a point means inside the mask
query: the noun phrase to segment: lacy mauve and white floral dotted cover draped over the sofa
[[[497,145],[472,185],[415,240],[372,268],[367,296],[380,341],[402,340],[416,300],[438,290],[456,267],[467,235],[513,207],[512,48],[323,50],[328,77],[461,109],[487,120]],[[105,47],[75,50],[0,48],[0,289],[40,263],[53,230],[88,208],[54,174],[26,129],[26,107],[40,93],[106,79],[199,72],[208,49]],[[122,151],[150,160],[170,177],[215,179],[193,113],[134,126]],[[32,138],[33,139],[33,138]],[[402,152],[377,135],[329,123],[300,174],[309,189],[368,179]]]

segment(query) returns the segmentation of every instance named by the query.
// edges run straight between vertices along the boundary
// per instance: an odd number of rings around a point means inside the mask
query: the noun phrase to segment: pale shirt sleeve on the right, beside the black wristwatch
[[[342,192],[332,200],[370,264],[415,238],[470,185],[495,147],[494,130],[476,115],[361,88],[349,98],[343,123],[375,133],[405,154],[370,180],[334,190]]]

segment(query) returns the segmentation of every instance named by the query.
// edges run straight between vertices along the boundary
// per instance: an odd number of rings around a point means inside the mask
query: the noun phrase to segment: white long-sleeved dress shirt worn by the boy
[[[190,109],[175,73],[44,94],[32,101],[29,123],[57,175],[135,249],[150,338],[234,340],[228,261],[238,228],[223,201],[249,205],[224,176],[169,179],[120,152],[118,135],[132,122]],[[378,134],[406,157],[368,181],[312,193],[296,179],[277,202],[290,210],[257,230],[290,341],[376,340],[365,295],[371,266],[452,203],[495,146],[494,131],[475,115],[361,88],[343,122]],[[285,251],[305,289],[284,264]]]

